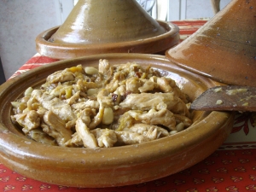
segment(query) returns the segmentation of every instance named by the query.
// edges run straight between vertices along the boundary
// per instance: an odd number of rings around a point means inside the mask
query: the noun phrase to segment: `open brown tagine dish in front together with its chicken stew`
[[[233,113],[189,110],[216,85],[161,55],[91,55],[37,67],[0,87],[0,160],[26,177],[74,187],[166,177],[229,136]]]

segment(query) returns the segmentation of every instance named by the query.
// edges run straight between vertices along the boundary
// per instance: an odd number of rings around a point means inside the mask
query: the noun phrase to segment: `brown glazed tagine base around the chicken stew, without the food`
[[[97,67],[100,59],[136,61],[172,77],[191,101],[219,83],[177,67],[162,55],[107,54],[57,61],[22,73],[0,86],[0,161],[26,177],[64,186],[102,188],[144,183],[180,172],[212,154],[229,136],[234,113],[194,111],[193,125],[175,135],[115,148],[62,148],[26,138],[10,119],[11,104],[28,86],[50,73],[78,64]]]

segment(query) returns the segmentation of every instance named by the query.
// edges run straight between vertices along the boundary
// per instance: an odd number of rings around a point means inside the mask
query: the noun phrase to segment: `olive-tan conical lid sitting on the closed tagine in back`
[[[152,38],[165,32],[134,0],[79,0],[49,41],[103,44]]]

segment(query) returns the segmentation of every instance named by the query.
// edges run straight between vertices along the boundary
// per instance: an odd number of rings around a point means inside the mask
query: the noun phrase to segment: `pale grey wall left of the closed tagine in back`
[[[0,0],[0,56],[6,79],[36,54],[36,36],[60,24],[55,1]]]

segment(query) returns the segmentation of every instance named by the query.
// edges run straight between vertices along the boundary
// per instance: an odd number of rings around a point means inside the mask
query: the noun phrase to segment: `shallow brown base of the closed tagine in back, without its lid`
[[[108,44],[56,44],[48,39],[58,30],[55,26],[38,35],[36,45],[41,55],[64,59],[82,55],[105,54],[105,53],[158,53],[169,49],[179,42],[179,28],[177,25],[157,20],[166,32],[152,38],[137,39],[134,41],[108,43]],[[78,53],[79,51],[79,53]]]

